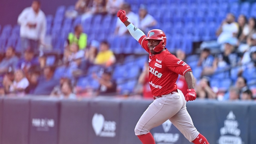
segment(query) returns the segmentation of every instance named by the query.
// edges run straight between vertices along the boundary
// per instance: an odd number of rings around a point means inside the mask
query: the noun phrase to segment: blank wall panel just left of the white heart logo
[[[59,143],[86,144],[91,124],[89,103],[86,100],[62,100],[60,110]]]

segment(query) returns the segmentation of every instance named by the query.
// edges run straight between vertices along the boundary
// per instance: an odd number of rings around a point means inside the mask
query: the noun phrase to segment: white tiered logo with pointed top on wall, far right
[[[236,120],[236,116],[233,111],[230,111],[227,115],[227,119],[224,121],[224,127],[220,129],[219,144],[242,144],[242,138],[240,136],[240,129],[238,129],[239,123]]]

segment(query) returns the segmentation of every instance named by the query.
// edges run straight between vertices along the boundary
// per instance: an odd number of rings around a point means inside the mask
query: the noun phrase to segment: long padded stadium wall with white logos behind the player
[[[134,128],[152,101],[0,98],[0,144],[141,144]],[[187,110],[209,143],[255,143],[253,101],[198,99],[187,102]],[[190,143],[169,121],[151,133],[156,144]]]

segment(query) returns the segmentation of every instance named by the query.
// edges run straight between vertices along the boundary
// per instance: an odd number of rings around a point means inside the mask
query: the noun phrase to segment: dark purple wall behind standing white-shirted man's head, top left
[[[0,25],[16,25],[18,15],[26,7],[31,6],[32,0],[0,0]],[[54,15],[60,5],[74,5],[76,0],[41,0],[41,9],[48,15]]]

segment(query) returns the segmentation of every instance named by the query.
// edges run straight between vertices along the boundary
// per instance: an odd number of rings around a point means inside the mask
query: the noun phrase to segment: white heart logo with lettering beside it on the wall
[[[92,128],[96,136],[115,137],[116,122],[106,121],[102,114],[95,113],[92,117]]]

